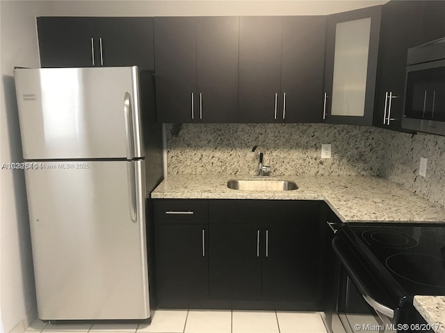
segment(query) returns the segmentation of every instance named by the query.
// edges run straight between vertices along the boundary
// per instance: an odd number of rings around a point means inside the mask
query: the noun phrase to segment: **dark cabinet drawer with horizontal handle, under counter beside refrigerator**
[[[207,200],[154,200],[154,223],[207,223]]]

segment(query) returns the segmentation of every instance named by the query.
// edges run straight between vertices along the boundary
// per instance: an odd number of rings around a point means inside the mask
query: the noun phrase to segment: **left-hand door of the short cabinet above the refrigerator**
[[[94,26],[92,17],[38,17],[41,67],[97,65]]]

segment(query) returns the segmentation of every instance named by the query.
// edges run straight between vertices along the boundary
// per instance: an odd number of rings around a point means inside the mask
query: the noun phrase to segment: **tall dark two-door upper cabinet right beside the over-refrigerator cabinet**
[[[238,17],[155,17],[163,123],[230,123],[238,112]]]

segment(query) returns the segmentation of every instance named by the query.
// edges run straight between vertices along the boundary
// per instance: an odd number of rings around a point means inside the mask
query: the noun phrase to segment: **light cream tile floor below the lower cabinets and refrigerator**
[[[238,310],[156,310],[151,324],[45,324],[26,333],[326,333],[318,312]]]

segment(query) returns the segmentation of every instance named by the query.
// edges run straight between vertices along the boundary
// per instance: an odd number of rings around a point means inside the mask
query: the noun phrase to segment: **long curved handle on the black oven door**
[[[368,303],[373,309],[375,309],[375,311],[378,311],[378,313],[383,314],[389,318],[394,318],[393,309],[387,307],[386,305],[383,305],[381,302],[378,302],[371,296],[371,293],[369,293],[368,289],[365,287],[363,280],[359,277],[359,273],[354,269],[353,264],[351,263],[353,259],[350,258],[347,250],[345,250],[344,246],[342,246],[341,239],[339,239],[339,237],[335,237],[332,240],[332,248],[334,248],[335,253],[337,253],[337,256],[339,257],[341,263],[348,272],[351,280],[353,280],[359,292],[362,294],[362,297],[364,298],[366,303]]]

